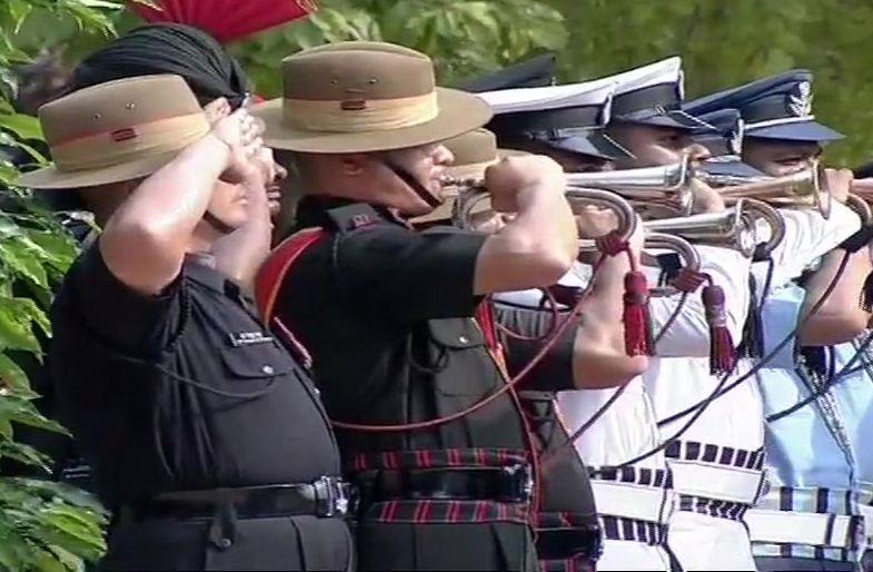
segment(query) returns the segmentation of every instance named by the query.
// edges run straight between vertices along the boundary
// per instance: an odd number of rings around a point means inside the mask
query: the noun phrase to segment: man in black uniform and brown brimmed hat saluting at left
[[[177,76],[82,89],[40,120],[56,166],[22,185],[129,193],[51,313],[60,416],[113,511],[102,565],[349,568],[317,392],[210,255],[268,217],[258,122],[224,109],[210,128]]]

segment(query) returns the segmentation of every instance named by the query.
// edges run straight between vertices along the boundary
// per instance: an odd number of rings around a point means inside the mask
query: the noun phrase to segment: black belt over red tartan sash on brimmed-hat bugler
[[[534,481],[528,465],[483,469],[379,470],[359,475],[361,502],[453,500],[523,503]]]

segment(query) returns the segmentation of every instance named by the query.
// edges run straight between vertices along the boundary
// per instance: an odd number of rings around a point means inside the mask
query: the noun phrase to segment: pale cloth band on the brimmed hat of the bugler
[[[325,100],[288,99],[282,117],[306,131],[389,131],[433,121],[439,115],[436,91],[397,99]]]

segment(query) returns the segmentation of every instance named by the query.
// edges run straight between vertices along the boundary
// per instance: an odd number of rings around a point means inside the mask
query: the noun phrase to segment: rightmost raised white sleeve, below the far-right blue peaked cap
[[[785,221],[785,238],[771,254],[773,278],[771,288],[786,284],[803,273],[813,260],[833,250],[861,228],[854,210],[834,201],[831,216],[822,217],[812,209],[780,209]],[[767,264],[753,265],[758,285],[764,285]]]

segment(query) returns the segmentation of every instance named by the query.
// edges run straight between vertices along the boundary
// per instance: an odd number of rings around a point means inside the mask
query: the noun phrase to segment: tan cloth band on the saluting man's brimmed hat
[[[197,112],[52,145],[51,156],[61,171],[102,169],[179,151],[208,132],[206,116]]]

